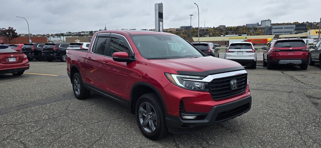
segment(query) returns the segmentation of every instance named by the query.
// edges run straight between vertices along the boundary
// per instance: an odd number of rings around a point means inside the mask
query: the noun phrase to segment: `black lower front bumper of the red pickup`
[[[207,114],[201,113],[204,116],[204,119],[201,120],[184,120],[179,116],[168,114],[166,116],[166,124],[171,133],[192,132],[236,118],[249,111],[251,104],[252,97],[249,95],[233,102],[216,105]],[[190,113],[189,115],[192,114]]]

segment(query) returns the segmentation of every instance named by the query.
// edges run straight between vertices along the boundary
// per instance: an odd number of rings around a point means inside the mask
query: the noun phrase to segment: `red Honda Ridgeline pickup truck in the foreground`
[[[67,50],[67,73],[77,99],[93,91],[129,107],[153,140],[233,119],[252,103],[239,63],[208,56],[170,33],[96,32],[88,51]]]

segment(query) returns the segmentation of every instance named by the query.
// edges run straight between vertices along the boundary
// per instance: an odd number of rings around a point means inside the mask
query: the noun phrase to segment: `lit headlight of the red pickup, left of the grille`
[[[197,79],[204,78],[202,76],[186,76],[171,73],[165,73],[165,76],[170,82],[178,87],[182,87],[188,90],[208,92],[208,82],[197,82]],[[195,79],[195,81],[187,81],[183,80],[182,78]]]

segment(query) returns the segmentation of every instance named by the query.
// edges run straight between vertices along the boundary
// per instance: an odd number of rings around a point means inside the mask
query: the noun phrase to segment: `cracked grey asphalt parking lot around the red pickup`
[[[249,112],[152,141],[128,108],[93,93],[75,99],[65,62],[33,61],[22,76],[0,75],[0,147],[321,147],[319,66],[246,70]]]

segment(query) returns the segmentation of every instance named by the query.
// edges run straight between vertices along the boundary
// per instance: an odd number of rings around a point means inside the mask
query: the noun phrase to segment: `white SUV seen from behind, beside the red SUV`
[[[251,42],[233,42],[226,49],[224,59],[256,69],[256,50]]]

